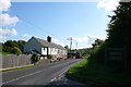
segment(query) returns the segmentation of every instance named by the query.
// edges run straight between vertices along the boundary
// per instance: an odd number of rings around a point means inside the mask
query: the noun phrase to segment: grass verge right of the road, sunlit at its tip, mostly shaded
[[[104,85],[106,87],[131,87],[131,73],[116,72],[110,67],[97,63],[92,58],[72,66],[68,71],[67,76],[85,84]]]

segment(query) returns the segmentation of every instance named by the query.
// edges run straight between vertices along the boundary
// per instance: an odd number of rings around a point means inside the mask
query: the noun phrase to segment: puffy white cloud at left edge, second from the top
[[[14,25],[19,22],[19,17],[10,16],[8,13],[0,14],[0,25],[1,26],[9,26]]]

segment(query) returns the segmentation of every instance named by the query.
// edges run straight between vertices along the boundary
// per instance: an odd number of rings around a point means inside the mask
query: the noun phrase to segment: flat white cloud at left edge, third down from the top
[[[15,28],[12,28],[12,29],[2,29],[2,28],[0,28],[0,36],[7,36],[7,35],[16,36],[17,32],[16,32]]]

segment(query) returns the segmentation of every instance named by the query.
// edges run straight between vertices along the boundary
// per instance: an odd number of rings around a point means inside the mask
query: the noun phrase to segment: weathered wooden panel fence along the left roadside
[[[32,54],[8,54],[8,55],[2,55],[2,69],[5,67],[15,67],[15,66],[22,66],[22,65],[27,65],[32,64],[31,62]]]

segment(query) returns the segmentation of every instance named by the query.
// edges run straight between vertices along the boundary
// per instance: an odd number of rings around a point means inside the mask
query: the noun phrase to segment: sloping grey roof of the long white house
[[[66,50],[66,48],[63,48],[62,46],[58,45],[58,44],[53,44],[53,42],[48,42],[47,40],[40,39],[40,38],[36,38],[36,37],[32,37],[35,38],[38,42],[40,42],[44,47],[50,47],[50,48],[58,48],[58,49],[62,49]]]

